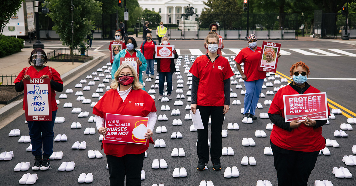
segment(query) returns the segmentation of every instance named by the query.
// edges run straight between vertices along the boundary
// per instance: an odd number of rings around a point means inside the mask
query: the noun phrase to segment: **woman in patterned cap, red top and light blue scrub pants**
[[[266,78],[265,71],[258,71],[260,65],[261,47],[257,47],[257,37],[255,34],[250,34],[247,37],[248,47],[243,48],[239,54],[236,55],[235,62],[242,79],[245,81],[246,93],[244,99],[244,119],[257,119],[255,110],[260,99],[263,80]],[[277,58],[281,54],[277,55]],[[242,71],[241,63],[244,63],[244,71]]]

